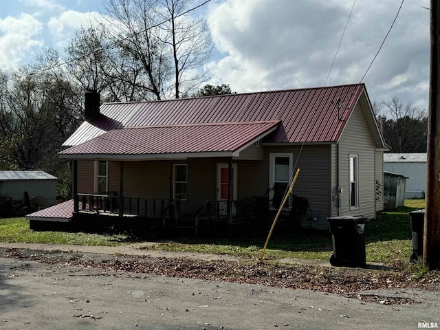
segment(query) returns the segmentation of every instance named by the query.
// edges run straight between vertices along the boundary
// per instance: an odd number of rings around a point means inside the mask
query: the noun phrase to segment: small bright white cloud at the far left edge
[[[30,14],[0,19],[0,67],[16,67],[34,47],[43,45],[43,23]]]

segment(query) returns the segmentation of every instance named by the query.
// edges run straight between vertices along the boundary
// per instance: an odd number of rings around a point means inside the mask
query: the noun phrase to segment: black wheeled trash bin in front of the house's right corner
[[[333,266],[365,267],[366,217],[347,215],[327,218],[333,239],[333,254],[330,264]]]

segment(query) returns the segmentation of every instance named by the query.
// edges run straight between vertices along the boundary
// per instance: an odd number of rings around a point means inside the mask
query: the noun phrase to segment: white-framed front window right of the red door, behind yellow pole
[[[272,208],[279,208],[283,202],[283,198],[289,189],[292,180],[292,153],[271,153],[270,154],[270,194]],[[292,207],[292,201],[284,206],[287,209]]]

